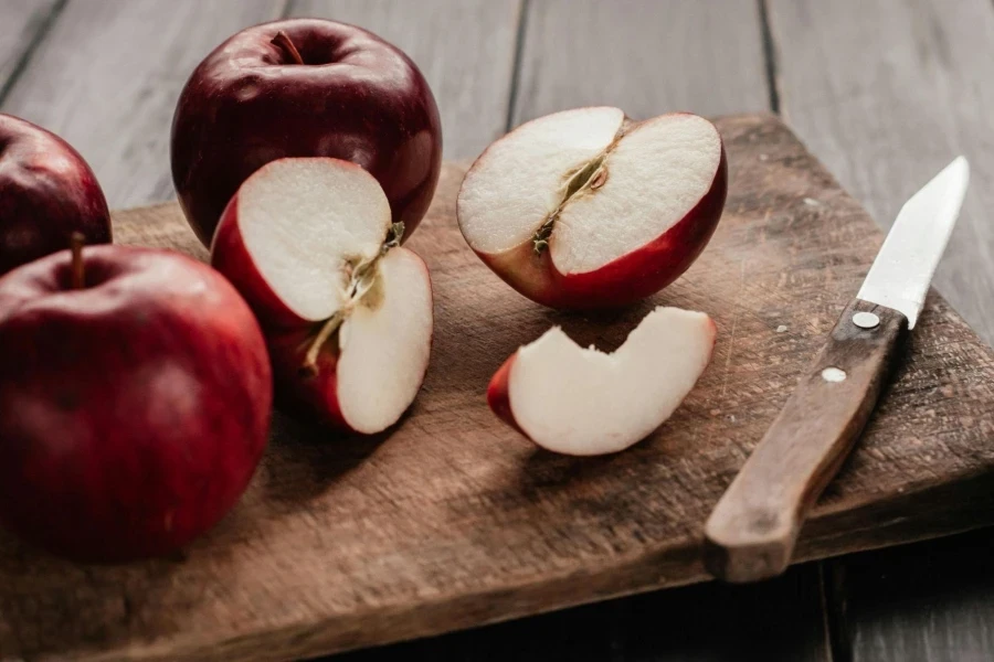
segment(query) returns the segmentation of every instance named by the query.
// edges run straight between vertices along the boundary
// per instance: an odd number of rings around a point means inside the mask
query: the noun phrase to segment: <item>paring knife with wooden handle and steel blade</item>
[[[959,157],[901,207],[863,287],[705,526],[705,564],[728,581],[786,569],[807,511],[869,419],[914,328],[970,167]]]

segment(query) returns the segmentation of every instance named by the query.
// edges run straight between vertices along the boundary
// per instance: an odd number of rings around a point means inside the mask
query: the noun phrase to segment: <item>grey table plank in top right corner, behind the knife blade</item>
[[[958,153],[972,167],[935,285],[994,341],[991,0],[771,0],[782,109],[878,223]]]

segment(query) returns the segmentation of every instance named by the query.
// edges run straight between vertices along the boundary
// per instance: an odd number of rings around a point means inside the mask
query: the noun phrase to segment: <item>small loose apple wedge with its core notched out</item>
[[[644,439],[687,397],[717,330],[702,312],[656,308],[612,354],[582,349],[553,327],[490,380],[503,420],[554,452],[616,452]]]

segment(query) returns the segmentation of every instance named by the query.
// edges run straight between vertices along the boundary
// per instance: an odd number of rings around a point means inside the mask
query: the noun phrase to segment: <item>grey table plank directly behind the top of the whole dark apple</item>
[[[421,68],[442,114],[448,159],[473,159],[505,131],[522,0],[304,0],[296,17],[353,23]]]

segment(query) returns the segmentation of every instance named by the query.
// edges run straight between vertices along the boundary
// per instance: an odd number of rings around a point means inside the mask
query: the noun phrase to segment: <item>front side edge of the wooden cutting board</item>
[[[836,509],[824,512],[823,509],[823,512],[817,513],[811,521],[812,526],[805,527],[802,532],[799,555],[792,566],[827,560],[847,554],[914,544],[994,525],[994,493],[987,489],[992,479],[994,479],[994,466],[988,471],[975,473],[961,482],[937,483],[922,490],[909,491],[893,499],[868,501],[854,510]],[[976,496],[979,499],[975,499]],[[922,500],[937,504],[941,504],[943,501],[958,504],[965,502],[970,503],[971,508],[939,508],[927,519],[900,517],[898,513],[907,512],[908,504],[920,503]],[[871,515],[882,517],[885,526],[871,526]],[[845,534],[835,536],[819,536],[817,532],[822,526],[825,528],[837,526],[833,522],[840,519],[854,517],[864,517],[866,522],[850,527]],[[911,526],[906,527],[906,524],[909,523]],[[815,530],[814,535],[812,534],[813,528]],[[868,531],[874,534],[874,537],[850,544],[854,531]],[[690,536],[687,540],[695,541],[697,536]],[[822,547],[818,552],[804,549],[805,546],[812,544],[822,545]],[[696,544],[691,544],[689,548],[698,547]],[[388,606],[364,612],[353,612],[341,618],[318,619],[308,623],[277,627],[221,641],[195,637],[186,641],[182,638],[171,638],[168,649],[166,644],[149,642],[128,645],[114,654],[80,652],[74,659],[81,662],[170,662],[178,659],[179,655],[191,662],[219,662],[230,659],[247,662],[275,662],[288,659],[287,653],[302,656],[345,653],[373,645],[435,637],[446,632],[485,627],[604,600],[713,580],[700,564],[699,555],[691,562],[698,570],[692,576],[670,580],[660,574],[659,568],[665,568],[667,564],[686,567],[686,559],[680,558],[679,555],[670,557],[675,547],[667,547],[658,553],[639,554],[630,558],[618,557],[615,564],[602,566],[594,573],[563,573],[553,579],[546,577],[541,581],[526,581],[501,590],[424,600],[417,610],[411,610],[403,605]],[[677,551],[686,552],[687,547]],[[630,577],[626,586],[610,590],[602,588],[595,595],[591,595],[590,587],[592,585],[614,584],[620,574]],[[658,580],[647,581],[646,576],[652,574],[657,574]],[[569,587],[575,585],[582,585],[583,588],[570,594]],[[559,592],[562,597],[559,600],[550,601],[549,592]],[[507,600],[506,606],[500,601],[501,598]],[[490,616],[480,616],[478,611],[472,609],[478,608],[484,602],[489,605],[489,610],[493,612]],[[466,616],[453,617],[453,615]],[[413,618],[405,618],[410,616]],[[459,618],[462,620],[458,620]],[[363,632],[363,626],[370,622],[380,623],[380,628],[366,629]],[[381,628],[389,632],[380,631]],[[285,643],[274,645],[274,641]],[[304,642],[303,645],[302,642]],[[260,654],[261,650],[274,648],[278,648],[278,654]],[[294,652],[295,648],[299,649],[296,653]]]

